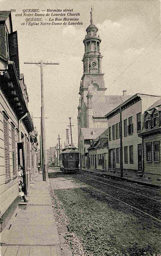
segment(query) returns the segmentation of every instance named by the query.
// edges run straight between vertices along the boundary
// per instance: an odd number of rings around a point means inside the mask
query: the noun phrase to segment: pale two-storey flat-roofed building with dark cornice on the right
[[[135,94],[121,104],[122,158],[126,174],[143,175],[142,140],[138,134],[144,127],[144,111],[159,96]],[[120,106],[105,116],[108,120],[109,172],[120,172]]]

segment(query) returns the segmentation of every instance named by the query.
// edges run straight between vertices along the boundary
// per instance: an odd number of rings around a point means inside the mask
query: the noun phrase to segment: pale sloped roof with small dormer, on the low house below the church
[[[84,137],[84,140],[92,140],[92,139],[96,139],[98,136],[100,136],[100,134],[102,134],[102,132],[104,132],[107,128],[81,128],[82,130],[82,134]],[[96,134],[92,135],[92,132],[95,131]]]

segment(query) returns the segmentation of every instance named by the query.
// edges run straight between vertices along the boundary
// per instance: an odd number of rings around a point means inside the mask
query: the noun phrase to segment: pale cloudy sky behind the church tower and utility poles
[[[13,30],[18,31],[20,72],[24,73],[29,94],[29,111],[40,116],[41,87],[40,68],[24,62],[59,62],[43,69],[45,91],[45,116],[47,148],[55,146],[60,134],[64,145],[69,116],[74,125],[73,142],[77,146],[77,106],[79,86],[83,74],[83,39],[90,25],[90,8],[93,6],[93,22],[102,39],[100,52],[102,72],[107,95],[145,93],[161,94],[161,29],[160,1],[158,0],[94,0],[94,1],[0,1],[0,10],[12,12]],[[79,13],[82,25],[24,26],[23,9],[73,9]],[[15,16],[21,14],[22,16]],[[63,12],[64,13],[64,12]],[[38,17],[38,16],[37,16]],[[49,18],[43,17],[43,22]],[[63,16],[61,16],[62,18]],[[67,16],[66,18],[73,18]],[[36,18],[34,16],[34,18]],[[58,17],[59,18],[59,17]],[[64,17],[63,17],[64,18]],[[46,19],[46,20],[45,20]],[[36,21],[35,21],[36,22]],[[55,22],[55,21],[54,21]],[[40,131],[40,120],[34,118],[34,126]]]

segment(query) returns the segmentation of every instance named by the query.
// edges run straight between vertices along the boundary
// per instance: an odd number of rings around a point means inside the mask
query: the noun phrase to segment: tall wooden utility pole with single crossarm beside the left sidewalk
[[[42,153],[44,158],[44,176],[45,181],[49,180],[48,177],[48,170],[47,170],[47,151],[46,151],[46,138],[45,138],[45,106],[44,106],[44,86],[43,86],[43,65],[59,65],[59,63],[53,63],[53,62],[43,62],[42,60],[40,62],[24,62],[24,64],[36,64],[41,68],[41,126],[42,126]]]

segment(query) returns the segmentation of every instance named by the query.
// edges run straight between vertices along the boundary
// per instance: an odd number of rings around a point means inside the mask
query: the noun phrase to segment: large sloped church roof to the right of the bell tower
[[[119,104],[128,100],[132,95],[105,95],[98,98],[98,100],[94,99],[94,95],[92,97],[92,106],[94,116],[105,116],[107,113],[116,108]]]

